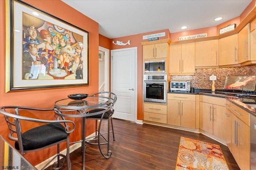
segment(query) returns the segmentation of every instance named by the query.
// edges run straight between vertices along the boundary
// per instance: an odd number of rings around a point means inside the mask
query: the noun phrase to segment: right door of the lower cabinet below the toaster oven
[[[180,117],[182,127],[196,128],[196,102],[181,101]]]

